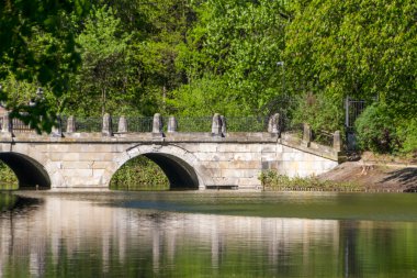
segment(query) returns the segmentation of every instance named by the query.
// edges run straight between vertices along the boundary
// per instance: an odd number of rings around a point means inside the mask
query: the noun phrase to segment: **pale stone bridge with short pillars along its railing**
[[[108,114],[101,132],[77,132],[74,118],[65,132],[42,135],[11,123],[7,115],[0,123],[0,159],[21,188],[108,189],[115,171],[142,155],[160,166],[171,188],[259,189],[262,170],[306,177],[330,170],[341,157],[338,132],[331,146],[323,146],[311,141],[307,125],[303,137],[280,131],[278,115],[268,132],[227,132],[218,114],[211,132],[177,132],[174,118],[164,132],[159,114],[151,132],[128,132],[124,118],[113,132]]]

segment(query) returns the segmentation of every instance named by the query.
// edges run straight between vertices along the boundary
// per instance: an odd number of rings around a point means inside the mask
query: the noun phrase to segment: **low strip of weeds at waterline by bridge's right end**
[[[259,179],[266,190],[323,190],[323,191],[362,191],[364,188],[353,182],[334,182],[316,177],[290,178],[274,170],[262,171]]]

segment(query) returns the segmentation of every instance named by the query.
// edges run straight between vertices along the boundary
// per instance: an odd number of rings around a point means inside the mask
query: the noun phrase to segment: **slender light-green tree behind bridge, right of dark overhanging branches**
[[[121,20],[112,8],[93,8],[83,31],[77,37],[82,64],[76,76],[71,101],[81,102],[84,113],[101,114],[115,109],[125,98],[123,82],[126,76],[126,53],[129,35],[121,30]],[[95,111],[95,112],[94,112]]]

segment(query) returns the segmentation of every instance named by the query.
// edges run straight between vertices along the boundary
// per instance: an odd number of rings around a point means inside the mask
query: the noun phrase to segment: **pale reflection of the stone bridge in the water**
[[[267,258],[261,263],[277,268],[294,248],[307,255],[313,246],[338,246],[338,238],[337,221],[161,213],[48,197],[30,210],[1,214],[0,277],[18,263],[21,274],[44,277],[64,258],[86,258],[86,265],[101,266],[98,274],[132,260],[158,274],[182,259],[210,273],[232,263],[229,256],[241,256],[235,263],[243,265]]]

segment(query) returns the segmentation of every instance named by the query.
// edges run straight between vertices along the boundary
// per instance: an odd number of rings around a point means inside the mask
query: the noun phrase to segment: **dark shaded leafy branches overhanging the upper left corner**
[[[37,131],[50,131],[55,112],[45,101],[40,100],[37,105],[14,101],[11,94],[21,91],[8,86],[8,80],[30,84],[23,87],[44,87],[56,98],[66,93],[69,75],[80,62],[68,14],[82,16],[86,9],[84,0],[0,3],[0,81],[5,84],[0,100],[13,111],[13,116]],[[33,97],[35,91],[31,93]]]

